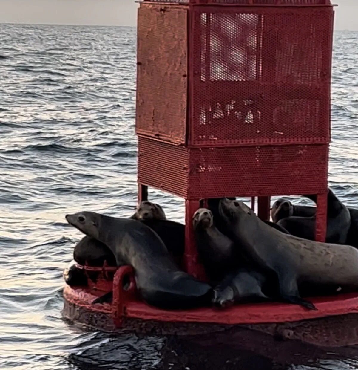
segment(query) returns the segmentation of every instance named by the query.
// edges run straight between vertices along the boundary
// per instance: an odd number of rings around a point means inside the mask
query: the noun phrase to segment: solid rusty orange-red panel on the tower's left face
[[[137,53],[137,134],[184,144],[187,7],[141,4]]]

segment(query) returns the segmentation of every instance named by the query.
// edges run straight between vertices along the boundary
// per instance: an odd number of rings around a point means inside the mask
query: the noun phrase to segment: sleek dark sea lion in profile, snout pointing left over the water
[[[163,241],[144,223],[86,211],[65,218],[107,245],[117,263],[123,260],[133,266],[139,294],[149,305],[189,309],[211,301],[212,287],[178,269]]]

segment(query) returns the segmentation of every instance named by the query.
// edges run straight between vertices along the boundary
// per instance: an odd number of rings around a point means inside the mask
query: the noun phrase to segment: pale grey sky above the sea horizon
[[[358,0],[331,0],[336,30],[358,30]],[[0,23],[135,26],[134,0],[0,0]]]

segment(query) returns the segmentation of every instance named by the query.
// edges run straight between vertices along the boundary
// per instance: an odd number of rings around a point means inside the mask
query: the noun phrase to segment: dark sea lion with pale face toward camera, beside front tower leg
[[[199,208],[192,217],[199,258],[211,283],[221,281],[240,261],[235,245],[214,225],[209,209]]]

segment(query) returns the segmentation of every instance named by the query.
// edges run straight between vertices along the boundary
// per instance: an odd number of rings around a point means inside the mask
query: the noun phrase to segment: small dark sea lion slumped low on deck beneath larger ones
[[[216,307],[227,308],[234,303],[270,300],[262,292],[262,286],[266,281],[266,276],[256,270],[249,268],[234,270],[215,287],[212,303]]]

